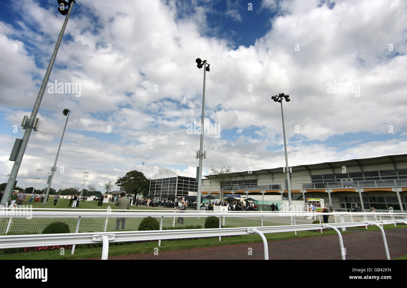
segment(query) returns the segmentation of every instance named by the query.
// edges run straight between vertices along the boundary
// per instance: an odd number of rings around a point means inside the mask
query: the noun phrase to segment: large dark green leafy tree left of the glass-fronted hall
[[[119,178],[116,185],[123,187],[127,193],[134,194],[134,197],[137,197],[137,194],[148,195],[150,180],[143,173],[133,170]]]

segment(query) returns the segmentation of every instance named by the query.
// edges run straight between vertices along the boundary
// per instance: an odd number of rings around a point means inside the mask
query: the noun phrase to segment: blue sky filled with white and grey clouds
[[[0,183],[65,19],[57,8],[0,2]],[[203,175],[211,165],[285,166],[278,93],[291,99],[289,166],[407,153],[406,14],[403,0],[77,0],[18,186],[37,177],[45,188],[66,108],[52,188],[81,186],[83,172],[85,188],[100,191],[132,170],[195,174],[204,82],[196,58],[210,64]]]

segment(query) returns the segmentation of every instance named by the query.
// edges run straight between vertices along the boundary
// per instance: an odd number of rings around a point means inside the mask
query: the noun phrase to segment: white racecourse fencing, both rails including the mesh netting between
[[[33,209],[34,210],[34,209]],[[48,211],[47,211],[48,210]],[[0,217],[0,227],[4,228],[5,233],[24,231],[30,235],[2,235],[0,236],[0,248],[19,248],[35,247],[50,245],[67,245],[67,244],[90,244],[103,242],[102,259],[107,259],[109,242],[123,241],[142,241],[142,240],[162,240],[162,239],[180,239],[180,238],[198,238],[214,237],[229,235],[245,235],[258,233],[265,246],[265,259],[268,259],[267,241],[264,233],[294,232],[304,230],[322,230],[332,228],[337,231],[339,244],[341,248],[342,259],[345,259],[343,253],[343,241],[341,233],[346,227],[370,225],[379,226],[382,231],[383,241],[385,244],[387,259],[390,259],[387,241],[383,224],[404,223],[407,224],[407,213],[313,213],[313,212],[212,212],[212,211],[151,211],[142,212],[129,210],[105,210],[105,209],[81,209],[75,211],[64,211],[64,209],[38,208],[32,212],[31,219],[26,217]],[[116,212],[118,211],[118,212]],[[121,212],[120,212],[121,211]],[[313,219],[321,219],[323,215],[330,215],[330,223],[311,224]],[[136,231],[136,226],[140,224],[144,217],[154,217],[160,222],[160,230],[153,231]],[[178,230],[161,230],[165,226],[175,227],[175,221],[184,220],[184,224],[198,225],[204,223],[209,216],[219,217],[219,227],[227,228],[215,229],[178,229]],[[125,219],[125,230],[130,231],[112,231],[122,228],[122,220]],[[4,221],[5,220],[5,221]],[[68,221],[71,231],[75,233],[66,234],[38,234],[41,233],[41,227],[57,221]],[[110,224],[109,224],[110,222]],[[311,222],[311,223],[310,223]],[[181,221],[178,222],[181,224]],[[225,225],[226,224],[226,225]],[[204,225],[202,225],[204,227]],[[89,231],[88,229],[92,229]],[[88,230],[88,231],[87,231]],[[34,231],[34,232],[33,232]],[[11,233],[13,234],[13,233]],[[160,241],[159,241],[160,246]],[[74,248],[72,249],[72,254]]]

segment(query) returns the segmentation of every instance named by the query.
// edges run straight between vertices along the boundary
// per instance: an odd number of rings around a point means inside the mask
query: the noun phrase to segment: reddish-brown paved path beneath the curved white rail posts
[[[346,259],[386,259],[380,230],[352,230],[352,232],[355,233],[342,235],[344,247],[346,248]],[[385,233],[391,258],[397,258],[407,254],[407,228],[387,229]],[[337,235],[270,241],[268,244],[270,259],[341,259],[339,238]],[[252,255],[248,255],[249,248],[252,248]],[[154,251],[146,254],[114,256],[109,257],[109,259],[264,259],[263,242],[159,252],[159,255],[154,255],[153,252]]]

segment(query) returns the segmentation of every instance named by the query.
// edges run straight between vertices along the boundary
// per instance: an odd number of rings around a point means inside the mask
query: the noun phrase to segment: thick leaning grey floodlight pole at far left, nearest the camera
[[[15,158],[13,168],[11,169],[9,180],[7,181],[7,186],[4,189],[4,195],[2,197],[1,204],[6,204],[8,202],[8,200],[10,199],[10,196],[11,196],[11,191],[14,188],[15,179],[17,178],[18,170],[20,169],[21,161],[23,159],[24,152],[25,152],[25,149],[28,144],[28,138],[30,137],[31,130],[33,128],[35,128],[34,122],[35,122],[35,117],[37,116],[37,113],[38,113],[39,104],[41,104],[42,96],[44,95],[44,91],[47,86],[47,82],[50,77],[50,73],[51,73],[52,67],[54,65],[55,58],[57,57],[59,44],[61,44],[63,32],[65,31],[66,24],[68,23],[69,16],[71,15],[71,11],[72,11],[72,7],[74,6],[74,2],[75,1],[73,1],[73,0],[69,0],[69,2],[65,2],[63,0],[58,0],[58,4],[59,4],[58,10],[62,15],[66,15],[65,21],[63,22],[61,32],[59,33],[57,44],[55,45],[55,49],[51,56],[50,63],[48,64],[48,68],[45,73],[44,80],[42,80],[41,88],[39,89],[39,92],[37,95],[37,100],[35,100],[33,111],[31,112],[31,116],[30,116],[29,120],[24,123],[24,128],[25,128],[24,137],[21,140],[20,148],[18,148],[17,156]],[[68,11],[65,9],[66,6],[69,6]],[[36,130],[37,129],[35,128],[35,131]]]

